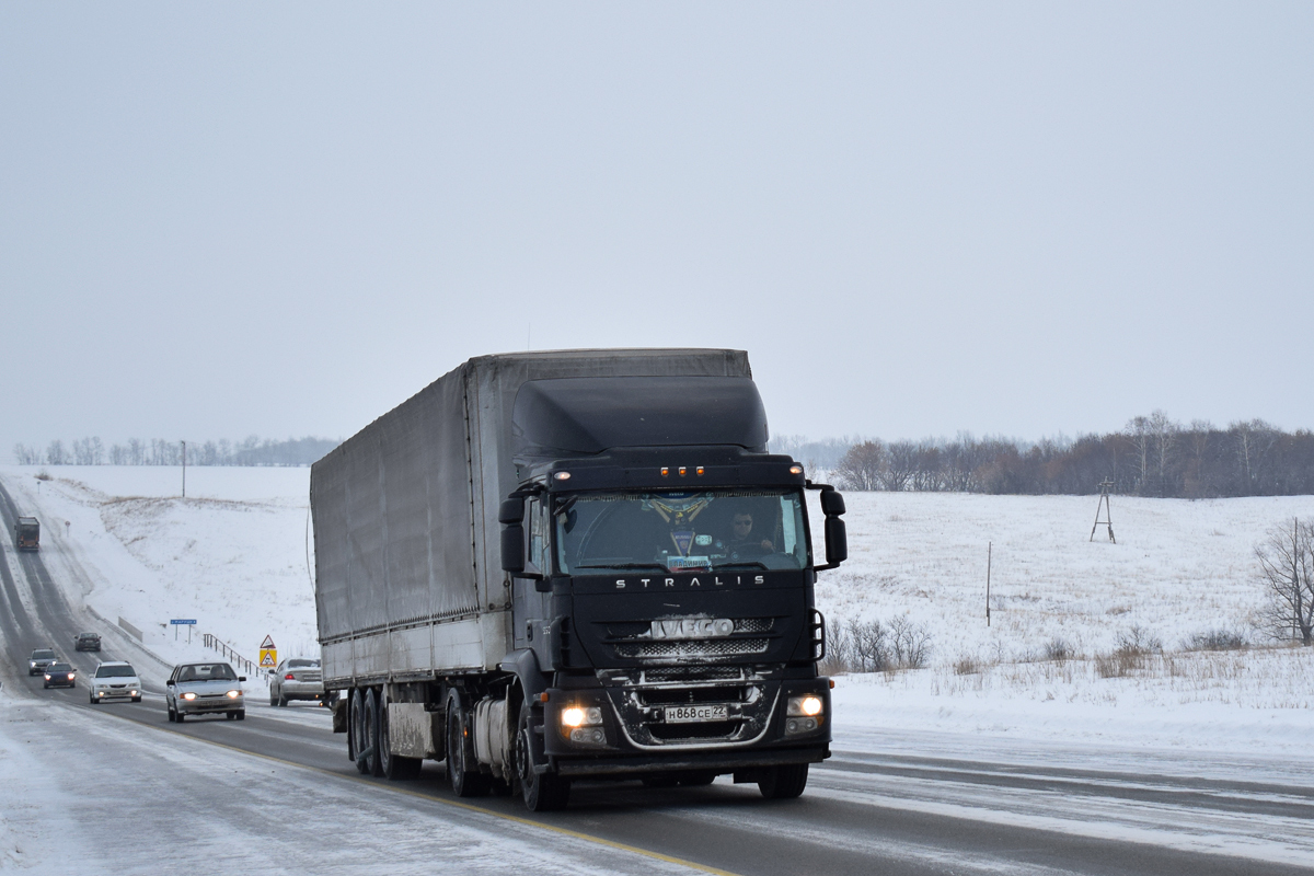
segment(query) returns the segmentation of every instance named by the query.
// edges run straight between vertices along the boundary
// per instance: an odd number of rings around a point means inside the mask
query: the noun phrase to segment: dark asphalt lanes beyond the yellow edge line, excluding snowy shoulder
[[[487,818],[533,822],[555,838],[582,837],[602,848],[637,850],[694,869],[741,875],[799,873],[1209,873],[1309,872],[1314,867],[1314,788],[1272,781],[1209,780],[1054,763],[980,762],[890,753],[836,751],[813,767],[799,800],[766,801],[756,785],[728,777],[703,788],[649,789],[637,781],[581,783],[570,808],[528,813],[518,799],[457,801],[442,763],[426,762],[414,781],[361,776],[326,709],[311,704],[247,704],[247,720],[189,718],[170,724],[163,704],[168,674],[117,626],[95,617],[70,594],[84,582],[51,579],[41,553],[18,553],[17,514],[0,487],[0,659],[11,684],[101,721],[129,721],[141,745],[152,734],[183,734],[230,750],[306,767],[325,783],[352,783],[361,797],[405,789],[407,805],[435,801]],[[46,533],[43,533],[45,536]],[[76,569],[76,565],[70,565]],[[101,653],[75,653],[74,637],[95,630]],[[33,647],[54,647],[83,678],[101,659],[127,659],[142,675],[141,704],[89,705],[85,684],[42,690],[26,676]],[[394,795],[393,795],[394,796]],[[311,842],[311,841],[307,841]],[[88,862],[93,864],[93,862]],[[95,867],[92,867],[95,869]]]

